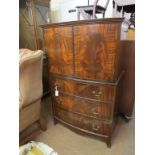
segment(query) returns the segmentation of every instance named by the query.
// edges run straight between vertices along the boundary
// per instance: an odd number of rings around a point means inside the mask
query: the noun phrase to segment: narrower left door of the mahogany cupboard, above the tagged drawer
[[[61,75],[72,75],[72,27],[45,29],[44,38],[49,71]]]

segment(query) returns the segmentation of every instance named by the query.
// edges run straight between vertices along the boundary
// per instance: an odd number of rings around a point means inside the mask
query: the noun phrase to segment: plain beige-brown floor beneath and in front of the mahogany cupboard
[[[97,139],[81,136],[61,124],[53,125],[49,115],[50,98],[42,102],[42,112],[47,118],[47,131],[35,139],[44,142],[59,155],[134,155],[135,153],[135,121],[134,118],[125,123],[121,118],[113,135],[112,147]]]

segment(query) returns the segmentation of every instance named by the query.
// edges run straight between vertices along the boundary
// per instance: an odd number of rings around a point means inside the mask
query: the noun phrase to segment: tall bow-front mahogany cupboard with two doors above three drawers
[[[43,25],[54,123],[111,146],[124,74],[122,18]]]

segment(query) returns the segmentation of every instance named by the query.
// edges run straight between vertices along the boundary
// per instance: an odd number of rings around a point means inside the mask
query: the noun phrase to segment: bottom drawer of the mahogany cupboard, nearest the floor
[[[103,135],[111,134],[112,124],[105,124],[103,121],[67,112],[59,108],[55,109],[55,115],[64,122],[80,129]]]

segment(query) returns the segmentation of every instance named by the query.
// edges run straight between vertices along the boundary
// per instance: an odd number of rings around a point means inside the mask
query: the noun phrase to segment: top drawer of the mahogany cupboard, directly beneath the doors
[[[57,87],[60,92],[96,100],[112,102],[115,97],[115,86],[111,85],[94,85],[58,78],[51,78],[50,85],[53,90]]]

